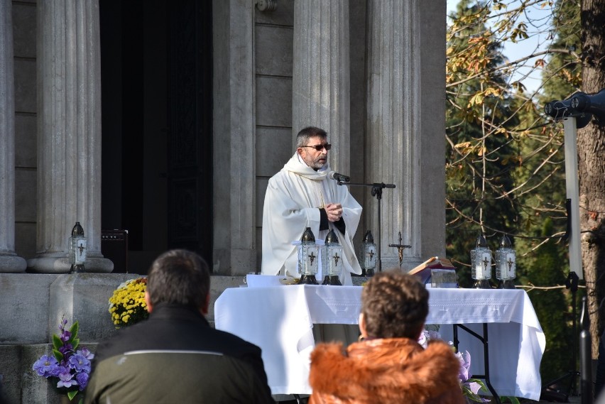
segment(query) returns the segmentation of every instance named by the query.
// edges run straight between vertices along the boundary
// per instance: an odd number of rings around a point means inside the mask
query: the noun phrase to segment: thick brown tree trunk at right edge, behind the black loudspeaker
[[[605,88],[605,0],[582,0],[582,91]],[[587,286],[592,357],[603,331],[605,297],[605,119],[577,133],[582,266]],[[578,337],[578,336],[576,336]]]

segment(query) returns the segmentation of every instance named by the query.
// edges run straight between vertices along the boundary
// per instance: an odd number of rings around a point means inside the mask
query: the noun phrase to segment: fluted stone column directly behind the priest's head
[[[349,1],[295,0],[293,132],[325,129],[332,143],[330,167],[347,175],[349,77]]]

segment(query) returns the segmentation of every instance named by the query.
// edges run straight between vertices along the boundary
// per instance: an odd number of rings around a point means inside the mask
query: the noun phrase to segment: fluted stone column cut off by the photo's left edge
[[[0,0],[0,273],[26,270],[15,253],[15,77],[11,0]]]

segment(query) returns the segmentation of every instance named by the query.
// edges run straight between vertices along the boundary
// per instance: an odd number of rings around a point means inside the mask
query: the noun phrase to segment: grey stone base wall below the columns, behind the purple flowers
[[[134,273],[0,273],[0,375],[9,403],[59,403],[50,383],[31,367],[40,356],[50,354],[61,317],[68,325],[80,323],[81,344],[94,351],[98,342],[116,333],[108,312],[109,297],[121,283],[138,277]],[[213,327],[214,302],[226,288],[243,284],[241,276],[212,276],[207,319]]]

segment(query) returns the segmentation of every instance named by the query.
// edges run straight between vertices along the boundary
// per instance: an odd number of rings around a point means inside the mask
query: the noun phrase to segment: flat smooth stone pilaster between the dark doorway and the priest
[[[254,1],[212,2],[214,275],[257,270]]]

